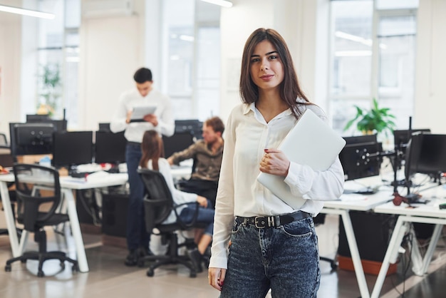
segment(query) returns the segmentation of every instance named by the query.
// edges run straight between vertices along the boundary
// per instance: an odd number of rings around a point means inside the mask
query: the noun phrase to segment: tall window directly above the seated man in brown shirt
[[[176,119],[219,114],[219,6],[163,1],[162,77]]]

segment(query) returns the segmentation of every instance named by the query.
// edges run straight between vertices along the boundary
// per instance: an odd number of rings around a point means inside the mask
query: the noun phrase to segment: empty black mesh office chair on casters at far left
[[[24,252],[19,257],[6,261],[5,271],[11,271],[11,264],[16,261],[38,260],[38,277],[43,277],[43,262],[56,259],[61,262],[62,270],[65,261],[73,264],[73,272],[78,271],[78,262],[66,256],[65,252],[48,252],[46,250],[46,226],[56,226],[68,222],[67,214],[59,213],[61,202],[61,185],[59,174],[54,168],[35,164],[13,166],[16,182],[17,222],[24,225],[24,230],[34,233],[34,241],[38,243],[38,252]]]

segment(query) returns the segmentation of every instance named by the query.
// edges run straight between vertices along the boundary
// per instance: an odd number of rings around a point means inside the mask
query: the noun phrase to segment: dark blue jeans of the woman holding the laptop
[[[221,298],[316,297],[321,280],[312,217],[258,229],[234,223]]]

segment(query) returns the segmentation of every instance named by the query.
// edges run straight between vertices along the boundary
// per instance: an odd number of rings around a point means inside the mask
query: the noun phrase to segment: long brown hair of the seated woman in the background
[[[146,130],[142,136],[142,157],[140,167],[147,168],[147,163],[152,160],[153,170],[160,170],[158,159],[164,158],[164,145],[161,136],[155,130]]]

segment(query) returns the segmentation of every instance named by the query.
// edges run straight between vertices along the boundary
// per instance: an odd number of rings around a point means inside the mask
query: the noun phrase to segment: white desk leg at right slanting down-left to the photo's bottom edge
[[[381,269],[375,282],[375,287],[373,287],[371,298],[379,297],[381,289],[383,289],[384,279],[389,269],[390,261],[393,260],[395,254],[398,254],[406,230],[407,227],[403,218],[401,216],[398,217],[392,237],[390,238],[387,252],[385,252],[383,264],[381,264]]]

